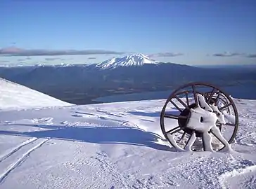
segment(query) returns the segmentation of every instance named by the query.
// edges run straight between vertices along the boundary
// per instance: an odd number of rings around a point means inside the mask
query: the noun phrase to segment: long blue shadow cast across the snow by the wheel
[[[10,125],[9,125],[10,126]],[[37,137],[60,139],[65,141],[82,141],[95,144],[129,144],[135,146],[147,146],[161,151],[172,151],[173,149],[164,144],[156,143],[163,140],[162,137],[152,132],[146,132],[135,127],[69,127],[61,125],[22,125],[39,127],[40,131],[18,132],[0,131],[0,134],[20,137]]]

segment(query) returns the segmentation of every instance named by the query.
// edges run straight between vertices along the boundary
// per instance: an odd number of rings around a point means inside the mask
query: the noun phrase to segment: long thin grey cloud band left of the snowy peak
[[[7,56],[54,56],[54,55],[122,55],[125,52],[113,50],[44,50],[44,49],[21,49],[2,48],[0,55]]]

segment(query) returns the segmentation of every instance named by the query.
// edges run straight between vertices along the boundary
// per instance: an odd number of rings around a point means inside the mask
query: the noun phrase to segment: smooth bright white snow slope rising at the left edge
[[[70,105],[72,104],[0,78],[0,110]]]

